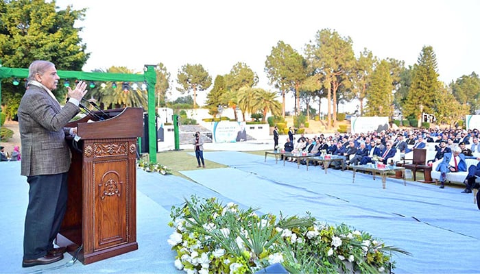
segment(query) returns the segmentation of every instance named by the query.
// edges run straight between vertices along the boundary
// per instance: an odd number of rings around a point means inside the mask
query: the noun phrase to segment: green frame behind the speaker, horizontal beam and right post
[[[62,79],[82,79],[86,81],[103,82],[147,82],[148,99],[148,151],[149,161],[156,163],[156,127],[155,127],[155,84],[156,84],[156,65],[145,65],[142,74],[127,73],[87,73],[84,71],[57,71]],[[1,66],[0,61],[0,80],[10,77],[28,77],[28,69],[8,68]],[[1,101],[1,82],[0,82],[0,101]],[[1,112],[1,109],[0,109]]]

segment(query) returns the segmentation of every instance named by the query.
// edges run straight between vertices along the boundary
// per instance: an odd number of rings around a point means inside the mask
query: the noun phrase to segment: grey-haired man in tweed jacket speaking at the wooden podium
[[[76,128],[64,127],[80,112],[86,94],[80,81],[68,87],[69,101],[60,106],[51,92],[57,88],[55,65],[37,60],[29,66],[28,86],[18,116],[22,144],[21,175],[27,176],[29,201],[23,237],[23,267],[62,260],[65,248],[53,248],[67,208],[67,174],[70,151],[65,135]]]

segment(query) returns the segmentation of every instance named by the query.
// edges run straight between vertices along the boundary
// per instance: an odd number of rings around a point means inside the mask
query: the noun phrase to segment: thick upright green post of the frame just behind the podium
[[[148,154],[151,163],[156,163],[156,126],[155,126],[155,84],[154,65],[145,65],[145,79],[148,85]]]

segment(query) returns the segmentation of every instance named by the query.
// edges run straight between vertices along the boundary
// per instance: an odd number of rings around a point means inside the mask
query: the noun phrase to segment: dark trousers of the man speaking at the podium
[[[67,175],[28,176],[28,208],[23,236],[23,258],[33,260],[53,249],[67,210]]]

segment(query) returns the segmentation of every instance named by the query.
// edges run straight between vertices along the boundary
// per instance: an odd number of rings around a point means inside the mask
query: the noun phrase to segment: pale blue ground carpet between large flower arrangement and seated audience
[[[184,171],[219,194],[264,212],[311,212],[320,221],[346,223],[412,253],[395,256],[396,273],[479,273],[480,212],[472,195],[458,188],[387,179],[297,164],[239,152],[208,152],[208,160],[230,166]]]

